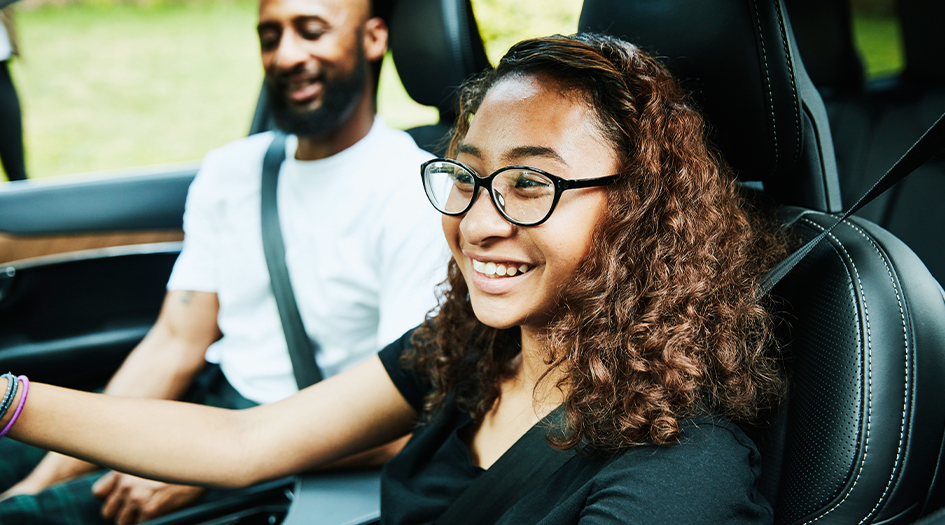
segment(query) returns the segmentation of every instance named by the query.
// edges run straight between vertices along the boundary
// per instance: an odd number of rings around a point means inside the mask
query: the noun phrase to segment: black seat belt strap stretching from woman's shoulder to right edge
[[[762,276],[761,282],[759,283],[760,295],[764,296],[770,292],[771,289],[774,288],[774,285],[778,284],[778,281],[797,266],[797,263],[801,262],[801,259],[806,257],[824,237],[833,231],[834,227],[845,221],[850,215],[859,211],[863,206],[869,204],[870,201],[883,194],[886,190],[892,188],[897,182],[906,178],[906,175],[915,171],[916,168],[925,164],[943,151],[945,151],[945,115],[939,117],[938,120],[935,121],[935,124],[932,124],[932,127],[909,148],[909,151],[906,151],[906,153],[893,164],[893,167],[889,168],[889,171],[880,177],[880,179],[876,181],[876,184],[873,184],[873,187],[856,201],[856,204],[837,219],[837,222],[833,223],[817,237],[811,239],[807,244],[798,248],[774,268],[768,270],[768,272]]]

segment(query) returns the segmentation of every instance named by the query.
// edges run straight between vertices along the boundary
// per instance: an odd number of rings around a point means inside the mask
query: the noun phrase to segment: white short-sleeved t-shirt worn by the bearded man
[[[244,397],[270,403],[298,389],[269,284],[260,226],[263,133],[211,151],[187,195],[184,247],[168,290],[215,292],[223,338],[207,351]],[[436,305],[449,250],[427,202],[430,154],[378,117],[332,157],[295,160],[286,141],[279,220],[286,266],[325,377],[361,362]]]

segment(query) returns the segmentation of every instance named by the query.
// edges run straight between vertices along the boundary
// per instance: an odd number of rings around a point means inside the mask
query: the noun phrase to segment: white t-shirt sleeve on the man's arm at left
[[[174,263],[167,289],[217,291],[215,256],[219,253],[220,195],[214,187],[215,156],[210,152],[187,190],[184,207],[184,245]]]

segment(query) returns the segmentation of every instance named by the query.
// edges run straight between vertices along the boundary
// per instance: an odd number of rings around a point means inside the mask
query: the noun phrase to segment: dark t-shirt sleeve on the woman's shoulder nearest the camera
[[[688,433],[696,435],[658,450],[631,449],[604,469],[581,525],[771,523],[771,507],[755,489],[760,456],[748,438],[712,423]]]

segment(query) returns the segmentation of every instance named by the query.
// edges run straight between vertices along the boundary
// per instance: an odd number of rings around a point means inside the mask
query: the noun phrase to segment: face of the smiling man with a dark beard
[[[368,0],[261,0],[259,44],[276,125],[318,136],[364,96]]]

